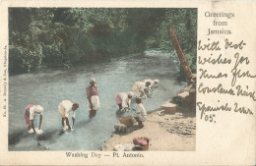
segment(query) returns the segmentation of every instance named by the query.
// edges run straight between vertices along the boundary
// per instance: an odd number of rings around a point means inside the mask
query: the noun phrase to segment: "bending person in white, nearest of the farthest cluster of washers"
[[[135,82],[132,86],[132,90],[136,94],[137,97],[147,98],[147,94],[148,94],[150,85],[151,85],[150,82],[147,82],[147,83]]]

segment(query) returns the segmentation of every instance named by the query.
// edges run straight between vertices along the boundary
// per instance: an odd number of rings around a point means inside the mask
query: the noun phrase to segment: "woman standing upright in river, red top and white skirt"
[[[96,110],[100,106],[96,89],[96,79],[91,79],[90,86],[87,87],[87,98],[89,102],[89,118],[93,118],[96,116]]]

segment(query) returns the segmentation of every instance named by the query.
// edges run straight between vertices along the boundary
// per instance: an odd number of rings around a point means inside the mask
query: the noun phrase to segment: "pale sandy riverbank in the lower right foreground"
[[[144,128],[136,124],[129,127],[126,135],[113,134],[103,151],[112,151],[118,144],[132,143],[133,138],[150,138],[149,150],[193,151],[196,147],[196,113],[158,110],[148,114]]]

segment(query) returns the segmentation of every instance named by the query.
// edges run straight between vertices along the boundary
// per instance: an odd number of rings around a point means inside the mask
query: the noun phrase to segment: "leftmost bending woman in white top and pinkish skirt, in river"
[[[30,134],[41,133],[42,113],[43,113],[43,107],[40,105],[29,104],[25,108],[24,119]],[[39,120],[38,130],[35,131],[33,120],[35,119],[36,115],[40,115],[40,120]]]

